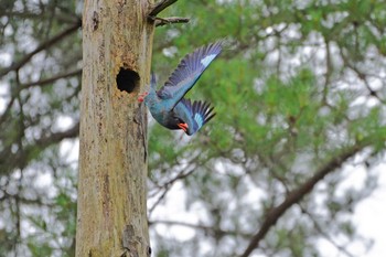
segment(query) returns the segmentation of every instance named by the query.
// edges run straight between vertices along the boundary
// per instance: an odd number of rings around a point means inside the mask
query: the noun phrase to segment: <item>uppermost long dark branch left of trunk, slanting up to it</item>
[[[40,44],[34,51],[31,53],[26,54],[22,60],[20,60],[17,63],[13,63],[11,66],[0,71],[0,77],[8,74],[11,71],[18,71],[20,67],[22,67],[24,64],[26,64],[35,54],[39,52],[49,49],[50,46],[54,45],[58,41],[61,41],[63,38],[69,35],[71,33],[75,32],[77,29],[79,29],[82,25],[82,22],[75,23],[74,25],[69,26],[67,30],[63,31],[62,33],[55,35],[54,38],[43,42]]]

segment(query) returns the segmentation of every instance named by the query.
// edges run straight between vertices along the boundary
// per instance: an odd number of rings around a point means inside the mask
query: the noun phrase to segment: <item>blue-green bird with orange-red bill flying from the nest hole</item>
[[[207,124],[216,114],[214,107],[202,100],[184,98],[204,71],[222,52],[223,42],[217,41],[196,49],[185,55],[164,85],[157,90],[156,75],[151,75],[150,90],[139,95],[151,116],[168,129],[182,129],[192,136]]]

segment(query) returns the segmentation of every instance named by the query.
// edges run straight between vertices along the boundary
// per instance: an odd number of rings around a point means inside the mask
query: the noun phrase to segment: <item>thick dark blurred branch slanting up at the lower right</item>
[[[352,148],[344,150],[343,152],[341,152],[341,154],[335,156],[328,163],[325,163],[325,165],[321,167],[314,173],[313,176],[311,176],[308,181],[301,184],[297,190],[291,191],[280,205],[271,208],[267,213],[260,229],[251,238],[248,247],[240,255],[240,257],[249,256],[259,246],[259,243],[261,242],[261,239],[264,239],[264,237],[269,232],[269,229],[286,213],[286,211],[289,210],[293,204],[300,202],[305,194],[310,193],[319,181],[323,180],[323,178],[326,174],[340,168],[349,158],[355,156],[358,151],[361,151],[364,147],[368,144],[369,144],[368,141],[362,141],[362,143],[357,143]]]

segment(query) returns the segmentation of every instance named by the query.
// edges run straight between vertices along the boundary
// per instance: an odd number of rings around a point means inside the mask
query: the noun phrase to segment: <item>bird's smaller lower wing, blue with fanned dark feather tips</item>
[[[185,98],[181,99],[173,111],[183,121],[178,126],[190,136],[195,133],[216,115],[212,113],[213,107],[211,107],[211,104],[201,100],[195,100],[192,104],[190,99]]]

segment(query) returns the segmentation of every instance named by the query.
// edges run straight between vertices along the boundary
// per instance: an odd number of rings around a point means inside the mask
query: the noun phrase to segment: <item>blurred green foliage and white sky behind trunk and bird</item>
[[[83,2],[0,6],[0,256],[74,256]],[[189,93],[215,106],[208,125],[149,121],[152,256],[385,255],[385,1],[191,0],[168,15],[191,21],[156,29],[160,84],[226,46]]]

